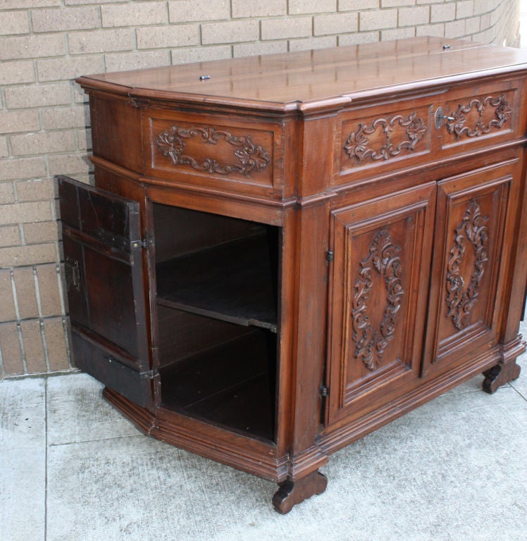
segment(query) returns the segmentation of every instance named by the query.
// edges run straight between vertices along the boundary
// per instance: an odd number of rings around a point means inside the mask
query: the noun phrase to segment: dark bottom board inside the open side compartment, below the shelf
[[[276,341],[255,329],[161,368],[163,407],[251,437],[273,440],[269,368]]]

